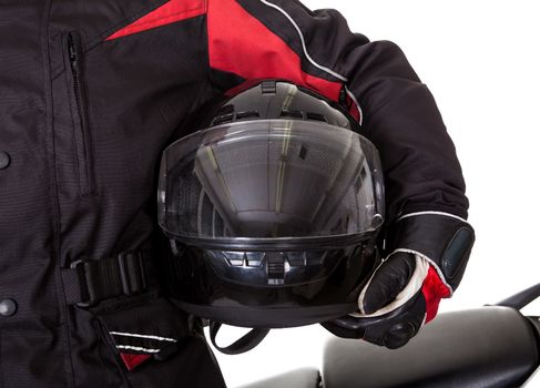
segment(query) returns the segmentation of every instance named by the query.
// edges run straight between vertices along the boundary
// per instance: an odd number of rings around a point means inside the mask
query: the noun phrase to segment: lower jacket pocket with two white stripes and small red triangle
[[[198,319],[164,297],[135,299],[95,313],[108,358],[129,387],[225,387]]]

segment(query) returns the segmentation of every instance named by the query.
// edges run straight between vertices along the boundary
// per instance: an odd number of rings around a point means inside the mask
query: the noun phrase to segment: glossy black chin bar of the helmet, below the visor
[[[349,314],[377,265],[369,241],[318,252],[171,245],[176,269],[170,292],[176,303],[190,314],[243,327],[302,326]]]

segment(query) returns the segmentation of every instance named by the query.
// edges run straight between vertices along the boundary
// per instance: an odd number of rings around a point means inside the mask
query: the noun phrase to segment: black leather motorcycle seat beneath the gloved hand
[[[537,338],[531,320],[509,307],[440,314],[396,350],[363,340],[330,339],[323,386],[519,387],[539,365]]]

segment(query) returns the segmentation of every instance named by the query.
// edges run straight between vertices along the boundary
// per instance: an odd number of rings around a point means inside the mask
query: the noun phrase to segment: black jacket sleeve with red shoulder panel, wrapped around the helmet
[[[370,42],[351,33],[339,12],[295,0],[208,0],[207,23],[217,88],[279,78],[356,105],[364,135],[380,151],[389,222],[427,212],[467,217],[454,144],[396,44]]]

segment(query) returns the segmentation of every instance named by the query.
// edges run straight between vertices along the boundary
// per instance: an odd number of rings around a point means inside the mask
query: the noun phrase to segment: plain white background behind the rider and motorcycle
[[[304,3],[310,9],[335,8],[353,31],[398,43],[437,100],[463,169],[469,221],[477,233],[460,288],[440,312],[496,303],[538,283],[540,12],[536,2]],[[528,310],[540,314],[540,304]],[[237,387],[298,367],[318,367],[328,337],[318,326],[274,330],[245,355],[216,351],[216,356],[228,386]]]

